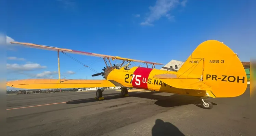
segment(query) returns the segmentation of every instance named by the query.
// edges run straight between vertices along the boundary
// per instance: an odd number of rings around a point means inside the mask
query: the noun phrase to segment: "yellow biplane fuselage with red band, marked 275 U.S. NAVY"
[[[129,70],[124,69],[124,67],[120,69],[109,67],[109,70],[106,71],[106,79],[110,80],[116,86],[170,92],[182,95],[205,96],[205,91],[175,88],[153,77],[154,75],[166,73],[175,74],[176,72],[145,67],[132,67]]]

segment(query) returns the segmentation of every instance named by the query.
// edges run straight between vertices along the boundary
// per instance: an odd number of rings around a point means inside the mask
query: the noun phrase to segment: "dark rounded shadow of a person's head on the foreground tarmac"
[[[185,136],[175,125],[161,119],[155,121],[152,136]]]

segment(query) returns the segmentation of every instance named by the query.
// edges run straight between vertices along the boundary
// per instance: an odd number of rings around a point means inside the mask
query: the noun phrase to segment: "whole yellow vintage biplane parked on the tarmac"
[[[162,65],[160,63],[30,43],[10,43],[57,51],[58,61],[59,52],[64,52],[102,57],[106,64],[103,72],[92,75],[102,75],[103,80],[61,79],[59,63],[59,79],[8,81],[7,86],[10,87],[26,89],[103,87],[96,91],[97,99],[102,97],[104,87],[120,86],[122,96],[128,94],[127,87],[132,87],[195,96],[202,100],[201,105],[206,109],[213,107],[212,102],[206,98],[236,97],[242,95],[247,88],[246,73],[238,56],[217,40],[207,40],[201,43],[178,71],[155,69],[155,65]],[[121,60],[123,63],[112,65],[110,60]],[[146,67],[130,68],[130,62],[145,63]],[[149,68],[148,64],[152,67]]]

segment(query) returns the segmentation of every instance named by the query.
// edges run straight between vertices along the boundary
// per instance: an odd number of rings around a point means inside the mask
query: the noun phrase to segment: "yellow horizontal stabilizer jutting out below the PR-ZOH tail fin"
[[[175,74],[158,74],[153,77],[175,88],[207,91],[212,90],[210,86],[200,81],[200,79],[177,78]]]

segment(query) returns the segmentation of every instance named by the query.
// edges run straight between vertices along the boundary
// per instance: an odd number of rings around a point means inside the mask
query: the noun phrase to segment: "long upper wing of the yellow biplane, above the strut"
[[[61,52],[68,52],[68,53],[95,56],[95,57],[107,57],[107,58],[111,58],[112,60],[116,59],[116,60],[142,62],[142,63],[155,64],[155,65],[163,65],[161,63],[140,61],[140,60],[134,60],[134,59],[130,59],[130,58],[123,58],[123,57],[119,57],[119,56],[110,56],[110,55],[103,55],[103,54],[97,54],[97,53],[91,53],[91,52],[76,51],[76,50],[71,50],[71,49],[57,48],[57,47],[51,47],[51,46],[45,46],[45,45],[37,45],[37,44],[31,44],[31,43],[20,43],[20,42],[10,42],[10,43],[11,44],[20,44],[20,45],[27,46],[30,48],[37,48],[37,49],[44,49],[44,50],[51,50],[51,51],[61,51]]]

